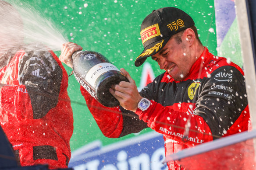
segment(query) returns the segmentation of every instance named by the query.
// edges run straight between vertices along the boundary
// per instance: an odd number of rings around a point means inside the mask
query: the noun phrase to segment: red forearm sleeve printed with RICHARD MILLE
[[[213,140],[209,126],[200,116],[174,111],[153,100],[151,100],[151,105],[146,111],[141,111],[138,108],[135,113],[138,114],[139,118],[145,121],[150,128],[164,135],[170,135],[177,142],[184,143],[184,127],[189,119],[189,133],[185,136],[187,144],[197,145]]]

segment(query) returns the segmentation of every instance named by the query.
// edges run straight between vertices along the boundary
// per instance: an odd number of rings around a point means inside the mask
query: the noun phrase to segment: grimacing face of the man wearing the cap
[[[167,71],[177,81],[183,80],[188,75],[193,64],[184,40],[178,44],[173,37],[160,52],[152,56],[152,59],[158,63],[160,69]]]

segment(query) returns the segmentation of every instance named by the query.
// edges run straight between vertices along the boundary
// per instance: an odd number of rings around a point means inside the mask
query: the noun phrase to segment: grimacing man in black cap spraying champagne
[[[84,88],[81,92],[103,134],[118,138],[152,128],[162,133],[166,156],[197,144],[247,130],[249,109],[242,69],[213,56],[199,40],[192,18],[174,7],[154,10],[141,25],[141,66],[151,56],[166,72],[138,92],[135,81],[110,89],[121,107],[105,108]],[[71,53],[82,49],[68,42],[60,56],[72,64]],[[126,113],[126,114],[124,114]],[[177,162],[168,168],[184,169]]]

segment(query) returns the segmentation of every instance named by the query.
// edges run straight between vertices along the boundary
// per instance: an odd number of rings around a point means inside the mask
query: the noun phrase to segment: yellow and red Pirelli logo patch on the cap
[[[146,42],[147,40],[153,37],[156,37],[158,35],[161,35],[158,24],[154,24],[148,28],[145,28],[140,32],[142,44],[144,44],[144,42]]]

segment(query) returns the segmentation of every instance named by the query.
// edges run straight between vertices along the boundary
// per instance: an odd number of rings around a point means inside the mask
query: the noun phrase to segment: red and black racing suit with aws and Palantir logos
[[[141,96],[151,102],[146,111],[106,108],[83,87],[81,92],[105,136],[119,138],[149,127],[163,134],[168,156],[248,129],[243,76],[239,66],[205,47],[184,80],[176,81],[165,72],[142,89]],[[176,161],[167,165],[170,170],[184,169]]]

